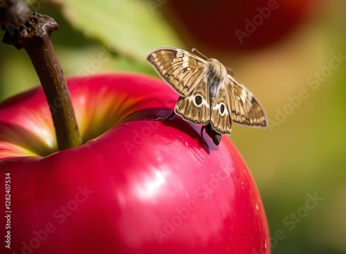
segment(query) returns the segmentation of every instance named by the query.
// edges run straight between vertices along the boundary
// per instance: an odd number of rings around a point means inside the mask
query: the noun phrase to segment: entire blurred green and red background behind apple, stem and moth
[[[52,39],[66,76],[156,75],[145,58],[157,46],[233,68],[269,120],[234,125],[230,138],[262,195],[272,253],[346,253],[345,1],[29,3],[60,24]],[[0,101],[39,84],[25,51],[0,44],[0,57]]]

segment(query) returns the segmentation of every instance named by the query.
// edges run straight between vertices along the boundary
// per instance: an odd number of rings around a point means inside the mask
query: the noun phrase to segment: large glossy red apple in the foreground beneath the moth
[[[68,83],[84,140],[95,136],[80,147],[53,152],[42,89],[0,104],[11,253],[271,253],[260,194],[230,139],[206,136],[208,149],[199,125],[154,120],[178,98],[167,84],[131,73]]]

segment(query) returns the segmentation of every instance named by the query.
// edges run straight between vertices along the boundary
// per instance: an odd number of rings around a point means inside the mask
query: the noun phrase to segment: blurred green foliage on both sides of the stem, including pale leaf
[[[102,71],[154,74],[146,63],[150,51],[162,45],[182,47],[167,21],[159,13],[153,15],[145,1],[28,3],[33,10],[50,15],[59,24],[60,29],[52,34],[52,41],[66,76]],[[25,51],[3,44],[0,55],[0,101],[39,84]]]

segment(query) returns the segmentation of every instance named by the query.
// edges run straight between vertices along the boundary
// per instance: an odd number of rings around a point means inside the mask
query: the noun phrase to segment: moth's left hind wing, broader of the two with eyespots
[[[210,122],[209,87],[202,78],[188,96],[180,96],[174,111],[192,123],[207,125]]]

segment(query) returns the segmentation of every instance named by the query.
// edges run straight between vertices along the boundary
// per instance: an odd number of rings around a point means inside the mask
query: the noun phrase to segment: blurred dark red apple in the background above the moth
[[[182,39],[230,51],[266,46],[309,17],[321,0],[158,1]],[[167,2],[167,3],[166,3]],[[157,8],[157,7],[156,7]]]

